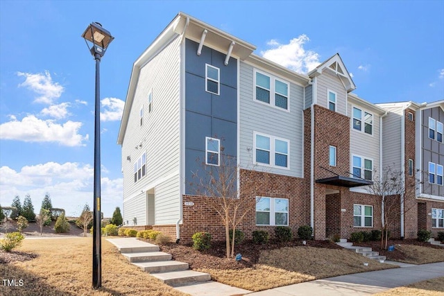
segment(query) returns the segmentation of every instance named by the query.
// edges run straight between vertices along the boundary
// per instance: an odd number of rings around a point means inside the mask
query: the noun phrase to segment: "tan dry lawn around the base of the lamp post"
[[[103,239],[102,288],[92,289],[92,238],[25,239],[20,252],[31,261],[0,264],[2,279],[22,279],[23,286],[0,283],[0,295],[185,295],[130,264]]]

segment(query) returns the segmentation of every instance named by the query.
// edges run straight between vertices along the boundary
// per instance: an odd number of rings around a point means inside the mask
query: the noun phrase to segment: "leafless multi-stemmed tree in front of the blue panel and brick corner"
[[[196,188],[197,195],[203,196],[205,205],[219,214],[225,226],[226,256],[230,258],[234,256],[236,228],[255,209],[258,201],[255,195],[262,183],[255,176],[257,171],[241,169],[236,159],[227,155],[221,157],[219,166],[204,163],[202,168],[202,172],[196,171],[193,174],[196,182],[191,183],[191,186]],[[238,183],[239,179],[241,184]]]

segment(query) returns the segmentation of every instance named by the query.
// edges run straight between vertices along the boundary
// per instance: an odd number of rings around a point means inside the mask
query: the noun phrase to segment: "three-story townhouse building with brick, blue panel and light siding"
[[[422,180],[432,180],[434,172],[434,182],[418,189],[416,216],[407,217],[414,223],[403,223],[402,215],[394,236],[414,237],[418,225],[443,227],[442,101],[409,106],[416,124],[402,121],[386,131],[395,111],[352,94],[356,87],[339,54],[301,74],[254,50],[180,12],[135,61],[118,136],[125,226],[157,229],[181,241],[198,231],[223,240],[219,216],[191,180],[201,163],[217,167],[230,157],[240,168],[237,186],[248,186],[243,176],[253,167],[264,185],[243,197],[255,209],[239,225],[247,237],[255,229],[273,234],[279,225],[293,232],[311,225],[316,239],[347,238],[380,228],[368,186],[375,172],[404,153],[400,169],[407,157],[429,168],[418,176]],[[425,137],[432,135],[430,126],[435,139]],[[389,144],[387,132],[404,150]],[[420,147],[412,134],[424,137]],[[393,150],[393,159],[384,150]]]

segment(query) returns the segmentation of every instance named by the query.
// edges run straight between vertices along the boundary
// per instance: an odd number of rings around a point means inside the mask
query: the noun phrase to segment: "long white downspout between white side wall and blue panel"
[[[184,79],[184,67],[185,62],[183,60],[183,57],[185,56],[183,54],[184,46],[183,41],[185,40],[185,31],[187,31],[189,25],[189,17],[187,17],[187,22],[185,23],[185,27],[183,28],[182,37],[180,39],[180,98],[179,98],[179,117],[180,117],[180,125],[182,125],[182,99],[185,97],[185,79]],[[182,143],[182,128],[179,129],[180,133],[180,143]],[[180,156],[182,153],[180,153]],[[179,243],[180,241],[180,223],[183,221],[183,183],[182,183],[182,157],[179,157],[179,218],[176,221],[176,243]]]

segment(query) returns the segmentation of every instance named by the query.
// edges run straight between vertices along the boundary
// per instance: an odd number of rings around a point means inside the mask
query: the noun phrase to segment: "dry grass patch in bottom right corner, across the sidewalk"
[[[409,286],[386,290],[377,296],[443,296],[444,277],[427,279]]]

